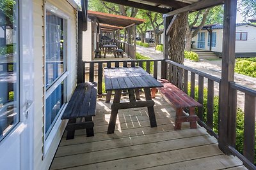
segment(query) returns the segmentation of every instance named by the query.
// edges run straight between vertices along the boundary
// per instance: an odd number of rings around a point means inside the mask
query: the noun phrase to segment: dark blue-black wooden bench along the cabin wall
[[[61,119],[68,119],[67,138],[74,139],[75,130],[86,129],[86,136],[94,136],[92,117],[95,116],[97,83],[79,83]]]

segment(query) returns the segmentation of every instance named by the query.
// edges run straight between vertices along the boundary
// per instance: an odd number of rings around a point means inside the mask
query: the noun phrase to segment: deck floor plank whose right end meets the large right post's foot
[[[211,157],[214,155],[222,155],[223,153],[218,149],[217,144],[196,146],[192,148],[184,148],[181,150],[172,150],[161,153],[152,153],[148,155],[140,155],[137,157],[127,157],[125,159],[117,159],[106,162],[98,162],[97,164],[85,165],[84,162],[77,162],[77,159],[85,159],[83,157],[76,157],[76,159],[67,160],[68,162],[56,161],[53,162],[51,169],[143,169],[153,166],[161,166],[163,164],[172,164],[175,162],[182,162],[191,159],[200,159],[202,157]],[[109,157],[112,157],[109,153]],[[87,157],[86,160],[90,159]],[[100,160],[100,158],[99,158]]]

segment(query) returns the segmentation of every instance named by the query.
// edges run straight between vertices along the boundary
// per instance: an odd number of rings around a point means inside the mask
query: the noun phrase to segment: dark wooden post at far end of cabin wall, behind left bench
[[[78,12],[78,32],[77,32],[77,83],[84,82],[83,69],[83,31],[86,31],[87,23],[83,22],[82,11]]]

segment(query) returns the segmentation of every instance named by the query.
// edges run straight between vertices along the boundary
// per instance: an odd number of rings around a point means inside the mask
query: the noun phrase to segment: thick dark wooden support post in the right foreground
[[[228,141],[232,138],[228,130],[236,122],[229,122],[230,107],[232,108],[232,94],[230,82],[234,81],[235,49],[236,49],[236,8],[237,1],[226,0],[224,5],[224,28],[223,28],[223,52],[220,83],[220,122],[219,122],[219,147],[228,152]]]

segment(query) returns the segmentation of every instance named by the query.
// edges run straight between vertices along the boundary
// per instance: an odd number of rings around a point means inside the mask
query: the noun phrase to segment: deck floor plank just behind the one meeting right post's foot
[[[170,141],[160,141],[157,143],[148,143],[143,145],[126,146],[123,148],[113,148],[90,153],[81,153],[68,155],[65,157],[56,157],[53,161],[53,167],[81,166],[85,164],[96,164],[116,159],[125,159],[126,157],[138,157],[158,152],[171,150],[181,150],[182,148],[195,148],[195,146],[210,145],[217,143],[211,136],[196,136],[192,138],[182,138]],[[93,143],[92,143],[93,145]],[[89,145],[90,146],[90,145]],[[90,146],[93,148],[93,146]],[[96,146],[97,147],[97,146]],[[72,152],[72,150],[70,150]],[[198,152],[198,151],[197,151]],[[221,153],[221,151],[219,151]]]

